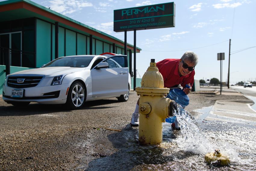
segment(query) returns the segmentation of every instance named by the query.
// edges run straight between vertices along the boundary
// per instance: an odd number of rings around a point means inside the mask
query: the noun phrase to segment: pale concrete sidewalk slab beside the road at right
[[[217,94],[220,94],[218,92]],[[222,95],[241,95],[233,89],[224,89]],[[248,100],[217,100],[209,115],[204,120],[221,120],[226,122],[250,123],[256,125],[256,111],[251,108],[253,102]]]

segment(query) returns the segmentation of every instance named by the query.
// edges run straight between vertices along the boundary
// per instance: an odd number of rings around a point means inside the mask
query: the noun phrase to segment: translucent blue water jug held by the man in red
[[[185,88],[190,88],[189,85],[186,85]],[[184,89],[184,88],[183,88]],[[176,103],[180,104],[183,108],[189,105],[189,96],[180,88],[170,89],[169,94],[166,98],[174,100]],[[173,123],[176,120],[176,116],[165,119],[165,122]]]

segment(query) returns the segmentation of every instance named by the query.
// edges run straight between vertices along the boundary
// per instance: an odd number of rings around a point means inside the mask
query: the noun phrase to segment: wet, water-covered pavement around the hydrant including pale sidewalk
[[[241,96],[233,90],[223,93]],[[192,124],[184,122],[189,127],[185,133],[164,123],[163,142],[158,146],[140,146],[139,129],[127,125],[122,132],[107,136],[118,151],[75,170],[255,170],[256,113],[249,104],[248,99],[217,100],[212,106],[194,110],[198,115]],[[191,137],[186,137],[188,134]],[[222,167],[207,164],[204,155],[214,149],[228,155],[231,163]]]

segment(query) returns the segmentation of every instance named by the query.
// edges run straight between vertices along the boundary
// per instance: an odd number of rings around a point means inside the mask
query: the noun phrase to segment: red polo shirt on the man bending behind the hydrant
[[[182,87],[185,87],[188,83],[190,83],[191,86],[193,85],[195,70],[186,76],[180,76],[179,61],[180,59],[164,59],[156,63],[159,72],[164,77],[164,87],[170,88],[177,84],[181,84]]]

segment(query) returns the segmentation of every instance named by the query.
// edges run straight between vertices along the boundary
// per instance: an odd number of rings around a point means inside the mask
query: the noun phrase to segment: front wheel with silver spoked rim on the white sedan
[[[68,91],[66,104],[71,109],[79,109],[86,100],[85,88],[82,83],[74,82]]]

